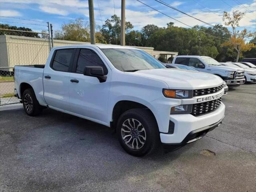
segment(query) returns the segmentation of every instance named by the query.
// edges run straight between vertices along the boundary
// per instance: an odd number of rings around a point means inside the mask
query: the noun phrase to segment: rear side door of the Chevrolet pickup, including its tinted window
[[[44,68],[44,99],[48,106],[69,109],[69,76],[75,49],[55,50],[50,66]]]

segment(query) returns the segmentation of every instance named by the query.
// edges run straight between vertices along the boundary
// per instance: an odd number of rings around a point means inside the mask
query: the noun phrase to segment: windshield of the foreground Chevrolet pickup
[[[110,62],[120,71],[134,72],[146,69],[166,68],[154,57],[142,50],[106,48],[101,49]]]

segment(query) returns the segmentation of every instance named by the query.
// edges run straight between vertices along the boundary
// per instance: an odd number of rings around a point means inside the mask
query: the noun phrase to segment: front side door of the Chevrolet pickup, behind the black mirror
[[[86,66],[101,66],[107,76],[106,82],[85,76],[83,72]],[[70,111],[89,120],[107,122],[110,77],[111,70],[96,49],[77,49],[69,77]]]

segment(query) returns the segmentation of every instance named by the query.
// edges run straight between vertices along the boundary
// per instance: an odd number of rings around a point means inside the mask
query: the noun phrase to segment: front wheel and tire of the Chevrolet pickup
[[[118,140],[126,152],[144,156],[156,150],[160,134],[154,116],[146,109],[130,109],[117,123]]]

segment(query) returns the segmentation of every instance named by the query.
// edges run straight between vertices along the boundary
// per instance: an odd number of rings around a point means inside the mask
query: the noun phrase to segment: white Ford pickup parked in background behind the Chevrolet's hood
[[[244,84],[244,70],[239,67],[222,66],[218,61],[207,56],[176,56],[173,64],[182,64],[200,72],[211,73],[221,77],[229,87]]]

